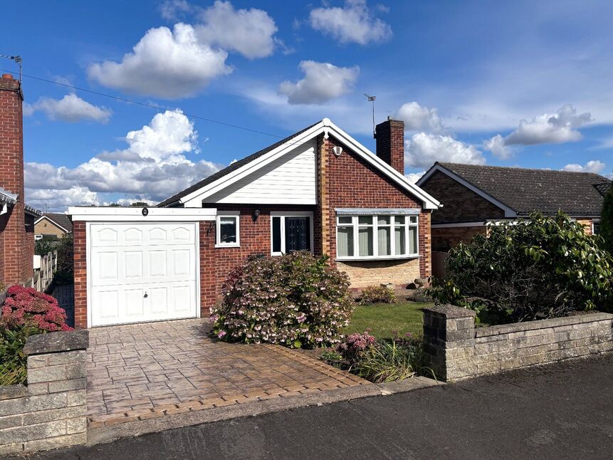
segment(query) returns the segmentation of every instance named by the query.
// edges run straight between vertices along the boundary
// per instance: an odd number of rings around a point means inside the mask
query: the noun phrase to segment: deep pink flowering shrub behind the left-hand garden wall
[[[66,312],[58,306],[58,300],[34,288],[11,286],[1,309],[0,327],[12,329],[28,326],[38,330],[71,330],[66,325]]]

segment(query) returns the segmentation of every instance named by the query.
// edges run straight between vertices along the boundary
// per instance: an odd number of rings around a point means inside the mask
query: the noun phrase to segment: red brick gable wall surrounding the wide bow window
[[[328,254],[336,256],[336,208],[414,208],[421,211],[421,202],[411,197],[391,179],[384,177],[377,169],[351,152],[334,137],[320,140],[320,162],[326,174],[324,189],[325,202],[320,214],[323,215],[323,238],[330,241]],[[332,147],[340,145],[343,152],[337,157]],[[320,199],[320,201],[324,201]],[[430,255],[430,211],[419,215],[419,268],[421,276],[429,276]],[[326,245],[324,245],[326,246]],[[407,280],[411,282],[413,280]]]

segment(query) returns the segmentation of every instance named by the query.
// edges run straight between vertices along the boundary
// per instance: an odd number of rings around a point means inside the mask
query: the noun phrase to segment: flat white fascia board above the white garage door
[[[216,208],[149,208],[147,216],[142,215],[140,207],[70,207],[68,215],[73,221],[88,222],[189,222],[214,221]]]

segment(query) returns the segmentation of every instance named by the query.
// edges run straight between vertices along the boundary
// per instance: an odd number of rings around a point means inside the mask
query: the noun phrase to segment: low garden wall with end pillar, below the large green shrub
[[[613,350],[609,313],[475,327],[475,313],[453,305],[424,309],[426,365],[464,380]]]

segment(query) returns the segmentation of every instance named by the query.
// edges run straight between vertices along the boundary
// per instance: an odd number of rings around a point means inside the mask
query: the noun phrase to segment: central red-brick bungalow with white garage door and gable
[[[439,202],[404,176],[404,123],[376,155],[324,119],[157,207],[73,207],[75,324],[209,314],[250,256],[328,254],[354,288],[430,275]]]

